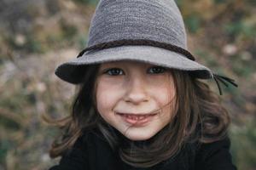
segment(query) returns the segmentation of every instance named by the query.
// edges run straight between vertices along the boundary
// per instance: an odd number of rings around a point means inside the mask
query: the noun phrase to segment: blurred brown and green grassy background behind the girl
[[[55,67],[85,48],[96,0],[0,0],[0,170],[47,169],[59,133],[42,115],[67,116],[75,87]],[[238,169],[256,169],[256,1],[177,0],[189,50],[212,71],[236,79],[224,88],[231,152]],[[218,94],[214,81],[212,90]]]

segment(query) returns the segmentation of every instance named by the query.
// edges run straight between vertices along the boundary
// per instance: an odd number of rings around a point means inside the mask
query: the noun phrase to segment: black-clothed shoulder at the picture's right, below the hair
[[[230,154],[230,138],[199,144],[195,153],[195,169],[225,169],[236,170]]]

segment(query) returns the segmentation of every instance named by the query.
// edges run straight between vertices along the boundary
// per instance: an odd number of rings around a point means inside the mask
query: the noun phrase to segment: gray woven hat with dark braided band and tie
[[[217,83],[234,82],[213,74],[189,53],[183,17],[174,0],[101,0],[90,20],[87,48],[59,65],[55,74],[78,84],[86,65],[122,59],[189,71]]]

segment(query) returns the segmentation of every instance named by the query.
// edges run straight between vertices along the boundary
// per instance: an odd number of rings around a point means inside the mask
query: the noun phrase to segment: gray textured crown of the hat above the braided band
[[[187,49],[183,17],[173,0],[101,0],[90,20],[87,47],[122,39]]]

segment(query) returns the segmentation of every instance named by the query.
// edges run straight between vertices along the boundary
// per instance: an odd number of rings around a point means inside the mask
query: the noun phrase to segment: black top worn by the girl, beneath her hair
[[[98,133],[84,133],[73,149],[49,170],[236,170],[230,155],[230,139],[201,144],[196,150],[185,144],[183,150],[154,167],[138,168],[121,161],[108,142]]]

